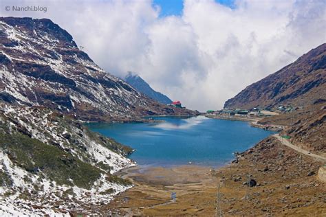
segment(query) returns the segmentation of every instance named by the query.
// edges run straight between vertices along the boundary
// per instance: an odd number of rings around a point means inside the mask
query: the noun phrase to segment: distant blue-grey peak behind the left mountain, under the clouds
[[[166,95],[157,92],[149,86],[140,76],[133,75],[133,73],[129,72],[128,75],[124,78],[124,80],[130,84],[134,89],[148,96],[149,98],[156,100],[162,104],[170,104],[172,100],[170,100]]]

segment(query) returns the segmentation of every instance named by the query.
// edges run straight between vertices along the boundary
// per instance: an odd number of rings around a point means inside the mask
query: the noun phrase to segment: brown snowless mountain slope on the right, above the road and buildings
[[[283,69],[251,84],[228,101],[225,108],[275,109],[291,104],[296,110],[260,120],[259,124],[285,126],[281,135],[305,150],[326,153],[326,43]]]

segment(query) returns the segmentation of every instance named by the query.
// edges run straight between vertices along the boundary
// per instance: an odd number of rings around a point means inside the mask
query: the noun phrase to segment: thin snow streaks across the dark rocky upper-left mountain
[[[17,43],[10,49],[4,45],[0,46],[1,54],[13,62],[13,65],[15,62],[20,62],[26,65],[50,66],[58,76],[74,80],[78,86],[78,89],[68,89],[55,82],[25,76],[19,67],[16,67],[16,70],[14,67],[10,73],[8,69],[0,68],[2,70],[0,76],[2,74],[4,78],[1,81],[7,87],[6,93],[22,103],[39,105],[35,90],[41,88],[45,92],[57,95],[68,93],[72,98],[78,99],[74,100],[74,108],[87,104],[112,117],[125,117],[133,113],[131,109],[133,106],[146,107],[146,100],[140,98],[137,91],[100,69],[87,57],[87,54],[84,55],[78,50],[74,43],[63,46],[62,43],[66,42],[59,41],[58,38],[43,30],[36,29],[28,32],[23,27],[13,27],[3,21],[0,21],[0,30],[10,41]],[[92,79],[89,79],[90,77]],[[99,82],[100,80],[102,82]],[[26,94],[27,92],[30,94]],[[61,106],[61,109],[68,110],[69,108]]]

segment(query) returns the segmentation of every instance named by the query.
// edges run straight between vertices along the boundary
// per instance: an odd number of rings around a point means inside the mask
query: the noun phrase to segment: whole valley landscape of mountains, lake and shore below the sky
[[[199,113],[50,19],[1,17],[0,215],[323,216],[325,56]]]

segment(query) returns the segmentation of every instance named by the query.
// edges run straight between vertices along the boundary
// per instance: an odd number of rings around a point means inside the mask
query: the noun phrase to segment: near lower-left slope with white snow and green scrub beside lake
[[[113,172],[132,150],[39,106],[0,103],[0,215],[44,215],[109,203],[131,187]]]

